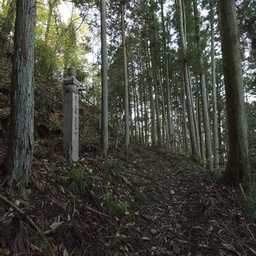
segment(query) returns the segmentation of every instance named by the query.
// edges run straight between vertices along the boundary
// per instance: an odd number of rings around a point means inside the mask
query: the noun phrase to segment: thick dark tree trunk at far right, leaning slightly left
[[[234,186],[241,183],[250,192],[251,166],[235,1],[220,0],[219,6],[228,129],[225,177]]]

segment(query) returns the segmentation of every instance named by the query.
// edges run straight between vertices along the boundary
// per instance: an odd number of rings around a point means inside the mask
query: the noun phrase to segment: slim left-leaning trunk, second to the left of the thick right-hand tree
[[[210,130],[210,120],[208,115],[208,103],[207,103],[207,95],[206,95],[203,54],[201,51],[201,42],[200,42],[197,0],[193,0],[193,9],[194,9],[194,24],[195,24],[195,31],[196,31],[196,44],[197,44],[197,51],[198,51],[198,57],[199,57],[199,76],[200,76],[201,96],[202,96],[202,105],[203,105],[203,121],[204,121],[203,123],[204,123],[204,132],[205,132],[205,149],[206,149],[206,158],[207,158],[207,168],[212,170],[213,164],[212,164],[211,130]]]

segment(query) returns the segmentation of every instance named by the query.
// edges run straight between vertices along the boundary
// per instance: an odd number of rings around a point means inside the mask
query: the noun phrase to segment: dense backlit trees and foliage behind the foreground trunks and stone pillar
[[[63,2],[70,11],[63,11]],[[62,86],[68,66],[75,66],[78,69],[77,78],[83,83],[80,89],[86,99],[93,105],[100,106],[99,3],[97,1],[63,2],[37,1],[35,72],[51,77]],[[225,169],[228,146],[218,5],[215,1],[192,3],[187,0],[182,3],[187,47],[184,53],[179,36],[177,3],[174,4],[174,1],[159,3],[128,1],[125,5],[130,142],[164,145],[171,151],[189,154],[191,142],[187,106],[184,103],[186,96],[182,72],[182,62],[185,58],[190,69],[194,115],[198,120],[196,130],[199,133],[197,136],[200,137],[199,158],[205,163],[207,158],[210,158],[205,152],[207,142],[205,136],[210,136],[215,167],[220,166]],[[255,169],[254,6],[252,1],[237,1],[236,6],[251,164]],[[162,11],[161,7],[163,7]],[[106,8],[109,119],[111,125],[118,127],[122,136],[125,130],[123,121],[125,104],[120,4],[118,1],[111,1],[107,3]],[[199,31],[195,30],[193,8],[198,10],[196,21]],[[69,18],[66,18],[66,15]],[[13,47],[14,20],[15,1],[2,1],[1,42],[9,51]],[[200,38],[197,37],[198,32]],[[201,64],[199,58],[202,58]],[[206,95],[203,95],[200,89],[201,72],[205,76]],[[202,96],[206,96],[206,99]],[[205,131],[207,125],[203,124],[205,100],[210,125],[208,127],[210,130],[207,132]],[[206,127],[206,130],[208,128]],[[170,134],[167,132],[168,129],[171,129]],[[169,138],[170,136],[173,138]],[[214,143],[218,144],[217,147]]]

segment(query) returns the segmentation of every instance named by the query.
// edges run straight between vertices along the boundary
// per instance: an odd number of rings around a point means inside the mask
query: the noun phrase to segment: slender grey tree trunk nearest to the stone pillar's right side
[[[109,134],[107,126],[107,42],[106,42],[106,0],[100,0],[100,39],[102,43],[102,134],[100,138],[102,157],[107,156]]]

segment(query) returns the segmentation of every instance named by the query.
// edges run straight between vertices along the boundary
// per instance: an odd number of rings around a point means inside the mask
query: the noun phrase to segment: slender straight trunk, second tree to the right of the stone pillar
[[[123,68],[124,68],[124,143],[126,147],[130,145],[129,131],[129,93],[127,82],[127,59],[126,59],[126,39],[125,39],[125,21],[124,9],[127,0],[121,0],[121,28],[122,28],[122,47],[123,47]]]

